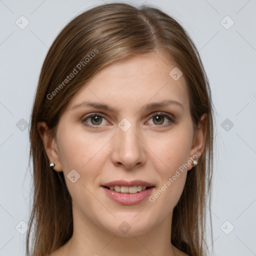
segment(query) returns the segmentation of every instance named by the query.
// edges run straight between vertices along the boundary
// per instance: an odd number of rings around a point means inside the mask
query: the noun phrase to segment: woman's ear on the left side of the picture
[[[56,139],[50,135],[50,129],[48,128],[46,122],[37,122],[37,131],[44,144],[44,148],[48,156],[49,162],[55,163],[55,171],[62,171],[61,163],[58,156]]]

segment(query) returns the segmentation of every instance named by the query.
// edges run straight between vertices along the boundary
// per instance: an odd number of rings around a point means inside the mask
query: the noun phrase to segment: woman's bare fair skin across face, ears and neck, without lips
[[[170,243],[171,217],[192,168],[191,158],[203,152],[206,115],[193,136],[185,79],[169,75],[175,66],[162,52],[117,60],[72,96],[56,137],[49,137],[46,123],[38,122],[49,161],[55,163],[55,171],[64,172],[72,197],[73,235],[51,256],[186,255]],[[182,106],[143,108],[165,99]],[[107,104],[116,112],[84,104],[74,107],[86,100]],[[94,116],[84,118],[89,113]],[[131,124],[126,131],[118,126],[123,118]],[[117,179],[140,179],[154,184],[154,195],[184,163],[189,166],[153,202],[146,198],[122,205],[101,186]],[[67,178],[72,169],[80,175],[74,183]],[[125,234],[118,228],[123,221],[130,226]]]

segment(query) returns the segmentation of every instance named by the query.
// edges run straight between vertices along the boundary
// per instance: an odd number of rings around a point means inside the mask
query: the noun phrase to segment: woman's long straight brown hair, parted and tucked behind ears
[[[49,170],[36,123],[45,121],[54,136],[64,106],[97,71],[117,59],[158,49],[167,52],[182,70],[194,127],[201,115],[207,114],[205,150],[199,164],[188,171],[184,190],[173,209],[170,241],[189,255],[206,255],[205,209],[210,204],[213,150],[209,82],[195,45],[175,19],[155,7],[125,3],[99,5],[77,15],[57,35],[43,62],[30,120],[33,203],[27,255],[51,253],[66,243],[73,231],[71,197],[63,172],[53,174]],[[70,73],[75,75],[67,79]]]

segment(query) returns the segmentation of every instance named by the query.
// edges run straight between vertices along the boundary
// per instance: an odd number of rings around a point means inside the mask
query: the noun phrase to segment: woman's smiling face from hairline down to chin
[[[74,224],[129,236],[170,223],[203,146],[176,68],[161,52],[117,60],[68,102],[48,156],[64,173]]]

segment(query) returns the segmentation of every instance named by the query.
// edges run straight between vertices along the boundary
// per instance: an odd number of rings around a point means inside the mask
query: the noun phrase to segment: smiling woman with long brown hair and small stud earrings
[[[73,18],[34,98],[27,255],[206,255],[212,123],[200,57],[172,17],[111,3]]]

